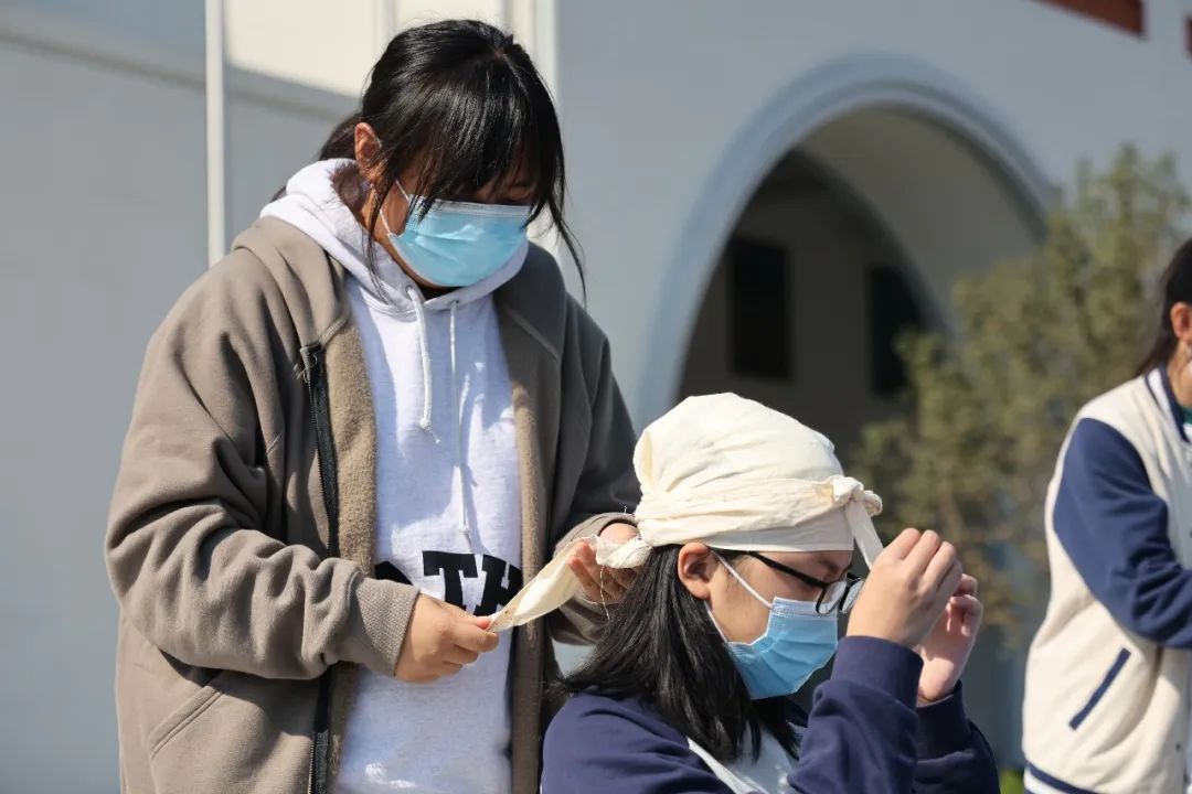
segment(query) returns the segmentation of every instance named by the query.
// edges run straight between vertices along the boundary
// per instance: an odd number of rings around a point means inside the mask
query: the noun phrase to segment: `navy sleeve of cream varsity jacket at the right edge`
[[[1081,419],[1068,442],[1051,523],[1093,596],[1129,631],[1192,649],[1192,571],[1167,534],[1167,504],[1117,430]]]

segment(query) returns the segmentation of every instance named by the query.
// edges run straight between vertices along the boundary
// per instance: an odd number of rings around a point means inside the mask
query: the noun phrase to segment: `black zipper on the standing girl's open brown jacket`
[[[315,452],[318,457],[319,490],[327,511],[327,554],[340,556],[340,481],[335,438],[331,436],[331,404],[327,389],[323,346],[313,344],[303,351],[306,363],[306,394],[315,425]],[[318,680],[318,701],[310,748],[310,794],[327,794],[331,751],[331,679],[334,668]]]

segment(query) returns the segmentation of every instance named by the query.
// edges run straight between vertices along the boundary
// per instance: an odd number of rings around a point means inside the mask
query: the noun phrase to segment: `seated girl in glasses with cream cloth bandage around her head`
[[[998,792],[960,686],[981,602],[950,544],[906,530],[882,551],[881,501],[831,443],[734,395],[663,417],[635,465],[639,538],[595,545],[638,573],[563,683],[542,794]],[[855,545],[868,580],[849,570]],[[577,588],[548,567],[498,623]],[[802,713],[790,695],[833,655]]]

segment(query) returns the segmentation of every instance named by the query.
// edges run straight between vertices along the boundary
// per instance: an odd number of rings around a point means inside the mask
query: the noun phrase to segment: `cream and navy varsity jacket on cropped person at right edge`
[[[1026,665],[1026,789],[1182,794],[1192,443],[1165,369],[1081,409],[1045,519],[1051,595]]]

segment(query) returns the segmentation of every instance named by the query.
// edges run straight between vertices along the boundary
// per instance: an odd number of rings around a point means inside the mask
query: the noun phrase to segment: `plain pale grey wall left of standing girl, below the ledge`
[[[114,792],[101,544],[145,342],[206,265],[201,85],[185,60],[135,68],[2,32],[0,790]],[[232,229],[346,107],[241,82],[274,102],[229,110]]]

